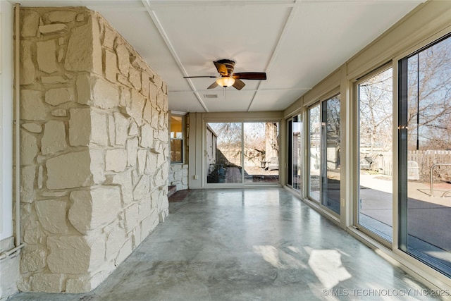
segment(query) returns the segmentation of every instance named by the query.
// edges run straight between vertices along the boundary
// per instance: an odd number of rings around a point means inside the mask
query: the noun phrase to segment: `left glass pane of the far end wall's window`
[[[242,123],[207,123],[206,152],[206,183],[242,183]]]

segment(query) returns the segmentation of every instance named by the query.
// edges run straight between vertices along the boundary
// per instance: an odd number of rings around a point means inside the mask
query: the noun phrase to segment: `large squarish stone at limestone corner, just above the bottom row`
[[[91,247],[80,235],[49,236],[47,266],[55,274],[83,274],[89,269]],[[68,260],[70,259],[70,260]]]

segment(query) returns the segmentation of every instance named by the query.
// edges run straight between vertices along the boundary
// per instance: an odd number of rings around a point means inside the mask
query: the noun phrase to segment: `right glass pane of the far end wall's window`
[[[243,123],[245,183],[279,183],[278,123]]]

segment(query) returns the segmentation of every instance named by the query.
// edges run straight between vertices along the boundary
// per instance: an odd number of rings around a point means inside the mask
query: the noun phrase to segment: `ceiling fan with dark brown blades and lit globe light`
[[[266,80],[266,73],[264,72],[238,72],[233,73],[235,61],[230,59],[221,59],[214,61],[214,66],[218,70],[220,76],[184,76],[183,78],[217,78],[207,89],[214,89],[218,86],[230,87],[233,86],[237,90],[245,87],[242,80]]]

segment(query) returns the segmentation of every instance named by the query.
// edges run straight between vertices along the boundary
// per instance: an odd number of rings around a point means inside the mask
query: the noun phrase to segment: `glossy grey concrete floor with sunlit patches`
[[[288,190],[220,189],[171,203],[92,292],[10,300],[438,300],[426,290]]]

